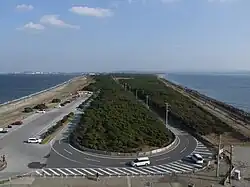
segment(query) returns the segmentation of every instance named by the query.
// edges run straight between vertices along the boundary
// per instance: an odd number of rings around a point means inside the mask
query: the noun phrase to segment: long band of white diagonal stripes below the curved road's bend
[[[148,167],[123,167],[123,168],[44,168],[37,170],[35,175],[44,177],[59,176],[140,176],[140,175],[166,175],[172,173],[193,172],[203,166],[184,161],[175,161],[169,164]]]

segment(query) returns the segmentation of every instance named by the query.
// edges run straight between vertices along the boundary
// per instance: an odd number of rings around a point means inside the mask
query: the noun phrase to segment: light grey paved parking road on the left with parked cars
[[[25,144],[30,137],[35,137],[44,132],[60,120],[64,115],[73,111],[83,98],[77,99],[60,109],[52,109],[45,114],[34,114],[23,121],[23,125],[14,127],[7,134],[0,136],[0,155],[6,155],[8,166],[0,172],[0,178],[12,174],[20,174],[33,171],[33,165],[46,162],[46,155],[51,150],[51,146]]]

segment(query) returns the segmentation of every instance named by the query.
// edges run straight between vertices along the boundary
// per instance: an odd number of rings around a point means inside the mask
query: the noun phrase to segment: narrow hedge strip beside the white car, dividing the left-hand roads
[[[50,127],[45,133],[41,135],[41,144],[46,144],[50,142],[57,134],[57,131],[63,128],[64,125],[68,124],[73,117],[74,113],[70,112],[68,115],[65,115],[60,121],[58,121],[55,125]]]

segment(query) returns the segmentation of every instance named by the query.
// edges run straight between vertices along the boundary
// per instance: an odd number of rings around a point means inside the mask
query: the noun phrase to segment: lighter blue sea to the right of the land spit
[[[250,112],[249,75],[169,73],[165,78]]]

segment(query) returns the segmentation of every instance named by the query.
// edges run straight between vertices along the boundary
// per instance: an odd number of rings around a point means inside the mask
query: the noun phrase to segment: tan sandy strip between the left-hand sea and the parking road
[[[91,78],[86,77],[76,77],[72,79],[68,84],[57,87],[53,90],[41,93],[37,96],[34,96],[30,99],[24,99],[15,103],[4,105],[0,107],[0,127],[6,127],[9,123],[22,120],[32,113],[23,113],[25,107],[34,107],[40,103],[46,103],[49,108],[55,106],[51,101],[54,98],[61,99],[62,101],[67,100],[71,97],[71,94],[74,94],[76,91],[82,89],[84,86],[87,86],[92,81]]]

